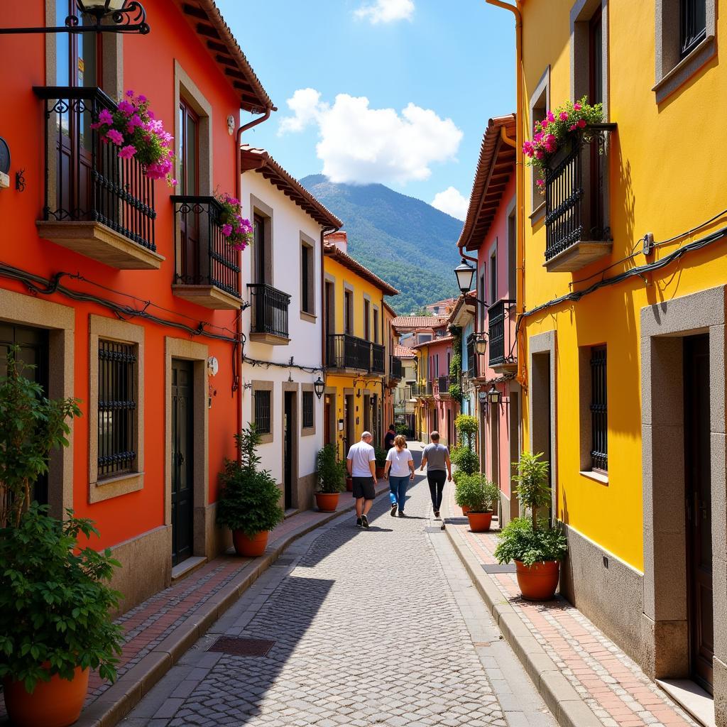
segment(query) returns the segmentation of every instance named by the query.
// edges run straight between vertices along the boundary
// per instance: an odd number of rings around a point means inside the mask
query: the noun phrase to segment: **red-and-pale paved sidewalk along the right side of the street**
[[[497,519],[493,531],[472,533],[446,490],[444,513],[450,537],[481,564],[496,563]],[[457,542],[455,542],[457,545]],[[483,571],[484,573],[484,571]],[[534,603],[520,598],[514,573],[485,574],[526,624],[531,636],[555,662],[603,727],[694,727],[696,723],[664,694],[621,649],[577,608],[558,596]]]

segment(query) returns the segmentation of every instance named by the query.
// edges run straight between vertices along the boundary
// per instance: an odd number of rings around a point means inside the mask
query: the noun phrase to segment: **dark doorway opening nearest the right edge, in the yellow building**
[[[684,339],[684,454],[690,671],[711,692],[715,648],[709,334]]]

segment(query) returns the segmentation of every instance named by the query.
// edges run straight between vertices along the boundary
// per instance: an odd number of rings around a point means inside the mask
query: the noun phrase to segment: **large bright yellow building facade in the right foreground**
[[[545,195],[525,169],[518,376],[569,536],[561,590],[653,678],[713,691],[727,725],[717,4],[518,1],[524,138],[584,96],[608,124],[553,156]]]

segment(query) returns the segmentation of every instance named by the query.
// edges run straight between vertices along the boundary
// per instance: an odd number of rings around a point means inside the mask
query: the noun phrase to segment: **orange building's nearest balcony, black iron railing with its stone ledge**
[[[120,159],[91,126],[116,104],[95,87],[35,87],[44,100],[41,236],[121,270],[164,260],[154,239],[154,182],[136,158]]]

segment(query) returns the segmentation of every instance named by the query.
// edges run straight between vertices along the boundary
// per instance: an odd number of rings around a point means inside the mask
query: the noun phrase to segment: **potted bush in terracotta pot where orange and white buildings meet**
[[[220,473],[217,523],[232,531],[238,555],[255,558],[265,553],[268,533],[284,519],[280,489],[268,470],[258,469],[260,434],[250,425],[235,435],[239,461],[228,459]]]

